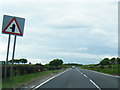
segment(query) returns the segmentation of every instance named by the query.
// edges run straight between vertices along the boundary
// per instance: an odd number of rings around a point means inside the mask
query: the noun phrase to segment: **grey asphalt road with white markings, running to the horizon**
[[[91,70],[74,68],[50,78],[38,85],[35,90],[40,88],[92,88],[93,90],[103,90],[112,88],[118,90],[118,77],[96,73]]]

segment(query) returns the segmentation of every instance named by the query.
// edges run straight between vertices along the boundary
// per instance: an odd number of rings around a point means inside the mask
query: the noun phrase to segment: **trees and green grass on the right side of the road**
[[[82,65],[81,68],[113,75],[120,75],[120,58],[104,58],[98,64]]]

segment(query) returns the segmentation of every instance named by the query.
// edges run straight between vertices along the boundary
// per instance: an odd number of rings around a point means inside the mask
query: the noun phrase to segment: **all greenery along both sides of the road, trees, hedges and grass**
[[[61,69],[71,67],[71,66],[80,66],[84,69],[95,70],[103,73],[120,75],[120,58],[104,58],[98,64],[91,65],[82,65],[76,63],[68,63],[63,64],[62,59],[53,59],[46,65],[42,65],[41,63],[29,64],[27,63],[27,59],[14,59],[14,65],[12,65],[12,60],[9,61],[7,67],[7,77],[4,77],[5,71],[5,61],[2,61],[2,82],[3,88],[12,88],[21,83],[28,82],[33,80],[34,78],[40,77],[42,75],[48,75],[50,73],[59,72]],[[13,77],[10,77],[11,66],[13,67]]]

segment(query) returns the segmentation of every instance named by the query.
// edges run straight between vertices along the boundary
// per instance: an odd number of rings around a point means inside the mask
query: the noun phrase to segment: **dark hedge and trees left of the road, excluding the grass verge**
[[[7,65],[7,76],[5,75],[5,64],[2,65],[2,78],[10,78],[10,76],[21,76],[25,74],[32,74],[32,73],[38,73],[43,72],[47,70],[58,70],[61,68],[64,68],[63,61],[61,59],[54,59],[47,65],[42,65],[41,63],[36,63],[35,65],[27,63],[27,59],[14,59],[14,64],[12,65],[12,60],[9,61],[9,64]],[[13,68],[13,73],[11,74],[11,67]]]

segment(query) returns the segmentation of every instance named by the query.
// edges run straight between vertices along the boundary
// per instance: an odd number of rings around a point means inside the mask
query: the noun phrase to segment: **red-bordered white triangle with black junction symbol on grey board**
[[[22,35],[22,31],[18,25],[18,22],[13,18],[10,23],[4,28],[3,33],[13,34],[13,35]]]

